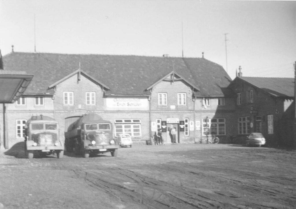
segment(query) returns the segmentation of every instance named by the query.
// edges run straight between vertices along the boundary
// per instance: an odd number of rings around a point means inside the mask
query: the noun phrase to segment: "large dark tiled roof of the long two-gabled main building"
[[[145,90],[172,71],[198,87],[197,95],[231,94],[226,71],[204,58],[12,52],[3,60],[6,70],[34,75],[25,93],[53,93],[48,87],[76,71],[80,62],[82,71],[110,87],[107,94],[149,95]]]

